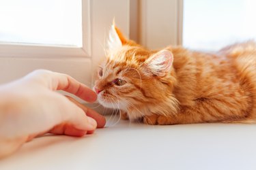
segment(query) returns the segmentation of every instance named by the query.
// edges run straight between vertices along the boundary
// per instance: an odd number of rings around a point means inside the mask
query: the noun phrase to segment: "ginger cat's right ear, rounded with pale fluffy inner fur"
[[[169,50],[160,50],[145,61],[147,71],[154,75],[164,76],[171,70],[173,64],[173,54]]]

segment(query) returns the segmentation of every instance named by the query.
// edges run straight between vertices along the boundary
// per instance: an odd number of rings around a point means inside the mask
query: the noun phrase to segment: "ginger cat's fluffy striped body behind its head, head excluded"
[[[179,110],[166,120],[154,116],[151,122],[256,122],[255,43],[236,44],[216,54],[170,50]]]

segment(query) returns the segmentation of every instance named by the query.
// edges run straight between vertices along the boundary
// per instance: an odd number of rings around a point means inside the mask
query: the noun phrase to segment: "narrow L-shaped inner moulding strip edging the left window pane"
[[[48,44],[0,44],[0,57],[32,57],[32,58],[55,58],[55,57],[89,57],[91,56],[91,28],[90,28],[90,0],[82,1],[82,29],[83,46],[52,46]]]

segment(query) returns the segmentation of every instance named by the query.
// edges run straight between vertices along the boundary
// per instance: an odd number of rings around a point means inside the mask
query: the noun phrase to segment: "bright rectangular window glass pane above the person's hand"
[[[0,42],[82,45],[81,0],[0,0]]]

